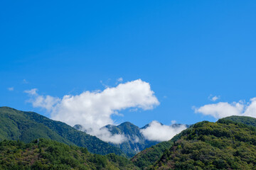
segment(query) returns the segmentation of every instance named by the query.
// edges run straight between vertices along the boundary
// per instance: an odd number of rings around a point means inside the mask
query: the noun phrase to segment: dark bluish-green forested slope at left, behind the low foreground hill
[[[85,132],[75,130],[65,123],[50,120],[38,113],[17,111],[8,107],[0,108],[0,140],[31,142],[39,137],[87,147],[95,154],[123,155],[121,149]]]

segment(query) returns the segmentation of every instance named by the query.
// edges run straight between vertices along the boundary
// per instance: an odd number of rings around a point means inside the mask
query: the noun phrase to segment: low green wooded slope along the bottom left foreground
[[[84,147],[39,139],[0,142],[0,169],[138,169],[115,154],[91,154]]]

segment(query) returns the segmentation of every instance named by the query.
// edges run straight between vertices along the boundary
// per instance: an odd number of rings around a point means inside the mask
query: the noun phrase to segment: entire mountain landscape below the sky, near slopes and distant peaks
[[[147,140],[147,126],[106,125],[127,139],[114,144],[88,135],[82,125],[1,107],[0,169],[256,169],[255,118],[186,125],[165,142]]]

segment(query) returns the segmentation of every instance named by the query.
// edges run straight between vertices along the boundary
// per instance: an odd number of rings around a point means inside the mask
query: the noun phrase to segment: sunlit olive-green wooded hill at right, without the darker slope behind
[[[149,169],[256,169],[256,128],[230,120],[196,123]]]

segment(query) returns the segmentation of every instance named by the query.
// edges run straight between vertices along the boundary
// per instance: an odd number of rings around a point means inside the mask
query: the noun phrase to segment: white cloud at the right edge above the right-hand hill
[[[225,118],[230,115],[246,115],[256,118],[256,98],[251,98],[248,103],[239,101],[207,104],[200,108],[195,108],[195,112],[202,113],[203,115],[211,115],[214,118]]]

